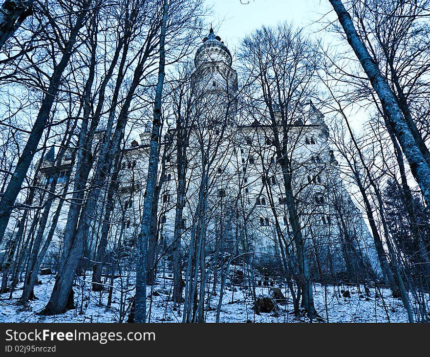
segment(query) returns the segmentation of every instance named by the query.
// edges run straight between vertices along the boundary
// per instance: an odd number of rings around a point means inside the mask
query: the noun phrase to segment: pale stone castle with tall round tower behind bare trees
[[[197,49],[190,78],[194,97],[182,131],[187,131],[185,205],[181,236],[184,249],[203,242],[205,254],[235,251],[262,266],[294,263],[294,240],[286,209],[285,187],[275,149],[273,123],[240,104],[237,71],[227,46],[211,28]],[[274,103],[274,111],[280,108]],[[308,101],[301,115],[275,126],[288,133],[293,191],[305,254],[315,278],[330,274],[380,275],[372,237],[340,178],[323,114]],[[178,164],[174,125],[160,152],[158,245],[172,245]],[[150,125],[124,152],[122,197],[118,213],[126,235],[140,229]],[[279,142],[279,138],[278,138]],[[203,239],[201,238],[203,237]]]

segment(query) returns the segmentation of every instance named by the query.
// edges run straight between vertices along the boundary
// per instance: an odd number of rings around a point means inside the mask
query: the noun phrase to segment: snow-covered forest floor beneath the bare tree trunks
[[[90,278],[86,280],[78,277],[75,292],[76,308],[64,314],[55,316],[39,315],[46,305],[54,285],[55,276],[41,276],[41,285],[35,287],[37,300],[31,301],[26,307],[19,305],[22,284],[14,291],[12,299],[9,293],[1,295],[0,298],[0,322],[120,322],[127,321],[129,312],[129,299],[134,293],[133,279],[115,279],[115,290],[112,297],[112,307],[107,308],[108,292],[90,291]],[[122,285],[122,292],[121,287]],[[151,322],[181,322],[182,314],[172,307],[171,279],[158,279],[157,284],[148,289],[148,311]],[[151,290],[152,289],[152,290]],[[212,287],[211,287],[212,289]],[[257,287],[258,295],[268,294],[270,288]],[[339,294],[339,290],[349,290],[351,298],[346,300]],[[236,290],[236,291],[233,291]],[[156,291],[156,292],[154,292]],[[246,290],[240,287],[227,288],[224,292],[220,322],[308,322],[306,317],[295,318],[293,314],[292,300],[288,291],[282,288],[287,297],[287,304],[280,305],[280,316],[271,313],[257,315],[252,307],[252,297]],[[375,297],[375,293],[377,296]],[[363,289],[362,289],[363,294]],[[314,285],[315,308],[323,319],[329,322],[408,322],[407,313],[400,299],[391,297],[388,289],[370,291],[366,300],[360,297],[356,287],[334,287],[327,286],[326,289],[320,284]],[[207,295],[206,295],[207,296]],[[366,295],[361,295],[366,296]],[[121,299],[126,311],[120,312]],[[219,299],[219,286],[216,295],[211,295],[211,304],[206,312],[206,321],[215,322],[216,306]],[[325,304],[327,301],[327,304]],[[325,307],[327,305],[327,308]]]

